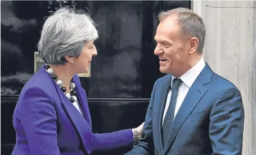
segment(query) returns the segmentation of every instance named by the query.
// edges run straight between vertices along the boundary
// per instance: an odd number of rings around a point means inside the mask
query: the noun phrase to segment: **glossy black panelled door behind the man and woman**
[[[96,22],[98,51],[87,92],[94,133],[140,125],[154,82],[163,76],[154,55],[160,11],[190,8],[190,1],[1,1],[1,154],[15,144],[12,115],[19,93],[34,74],[34,52],[44,22],[61,6],[88,11]],[[131,147],[93,154],[123,154]]]

